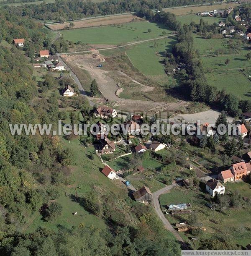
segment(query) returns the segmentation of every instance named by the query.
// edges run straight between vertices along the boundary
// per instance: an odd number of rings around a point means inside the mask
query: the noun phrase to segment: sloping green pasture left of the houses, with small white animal
[[[25,232],[32,232],[38,227],[48,227],[55,230],[62,226],[64,228],[72,228],[79,224],[93,225],[94,227],[106,228],[105,220],[97,217],[94,214],[90,214],[83,206],[70,199],[70,195],[81,196],[90,192],[93,186],[102,187],[102,193],[111,191],[119,194],[124,193],[121,188],[114,184],[114,181],[109,180],[100,171],[103,165],[95,154],[92,145],[85,147],[79,143],[78,139],[72,140],[69,143],[68,140],[61,137],[61,143],[63,147],[68,147],[73,151],[73,168],[72,175],[70,176],[71,185],[61,186],[61,196],[56,201],[62,206],[62,214],[55,221],[44,222],[41,219],[41,215],[36,212],[34,218],[24,227]],[[93,159],[90,159],[90,155],[93,155]],[[80,187],[80,189],[78,188]],[[72,213],[77,212],[74,216]]]

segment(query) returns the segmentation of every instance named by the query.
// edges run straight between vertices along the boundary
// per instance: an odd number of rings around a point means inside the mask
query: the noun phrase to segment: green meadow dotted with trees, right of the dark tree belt
[[[243,43],[238,45],[238,49],[233,49],[229,44],[231,41],[235,42],[236,39],[203,39],[200,35],[194,36],[195,47],[199,50],[209,84],[218,89],[224,88],[239,99],[250,99],[251,61],[245,57],[249,49]],[[218,49],[223,50],[223,53],[217,56],[215,50]],[[226,59],[230,60],[227,65]]]

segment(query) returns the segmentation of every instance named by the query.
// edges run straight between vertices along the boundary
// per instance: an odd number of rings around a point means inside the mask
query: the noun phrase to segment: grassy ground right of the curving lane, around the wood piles
[[[228,190],[236,191],[242,196],[248,196],[251,198],[251,186],[247,183],[229,183],[226,185],[226,192]],[[206,227],[207,230],[201,235],[202,238],[208,238],[211,235],[228,236],[233,238],[236,244],[246,246],[250,243],[251,237],[251,224],[249,216],[251,214],[251,208],[228,209],[220,213],[218,211],[211,211],[205,206],[207,200],[205,193],[192,190],[182,190],[181,188],[175,188],[170,193],[160,196],[161,206],[169,204],[179,203],[191,203],[192,210],[198,214],[199,221]],[[167,215],[171,223],[178,223],[187,220],[189,222],[190,215]],[[217,232],[217,233],[215,233]],[[179,232],[185,240],[189,240],[191,235]]]

